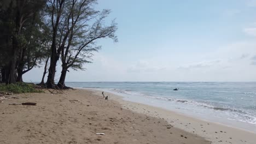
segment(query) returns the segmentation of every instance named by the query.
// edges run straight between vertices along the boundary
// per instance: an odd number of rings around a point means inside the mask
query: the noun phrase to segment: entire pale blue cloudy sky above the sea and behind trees
[[[99,0],[118,23],[66,81],[256,81],[256,0]],[[60,77],[58,63],[56,79]],[[24,81],[38,82],[43,67]]]

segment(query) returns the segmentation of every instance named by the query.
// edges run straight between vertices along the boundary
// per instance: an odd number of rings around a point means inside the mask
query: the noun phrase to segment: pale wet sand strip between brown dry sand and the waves
[[[100,89],[82,88],[89,91],[94,91],[95,94],[101,95]],[[212,143],[254,143],[256,141],[256,133],[241,128],[232,127],[223,123],[211,122],[197,117],[191,117],[184,113],[162,109],[152,105],[135,103],[124,100],[122,95],[117,95],[111,92],[105,92],[110,95],[110,98],[118,101],[125,109],[129,109],[138,113],[143,113],[148,116],[165,119],[174,127],[194,133]],[[157,114],[156,114],[157,113]]]

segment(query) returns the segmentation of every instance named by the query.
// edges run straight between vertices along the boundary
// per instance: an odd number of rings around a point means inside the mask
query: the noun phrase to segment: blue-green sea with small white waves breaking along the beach
[[[67,82],[256,132],[256,82]],[[173,91],[179,88],[178,91]]]

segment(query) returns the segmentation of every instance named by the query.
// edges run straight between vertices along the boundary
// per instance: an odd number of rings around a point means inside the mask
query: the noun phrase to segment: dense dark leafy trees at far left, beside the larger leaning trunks
[[[45,0],[0,1],[0,71],[6,73],[1,82],[10,77],[10,83],[22,81],[23,74],[48,57],[50,31],[44,9]]]

